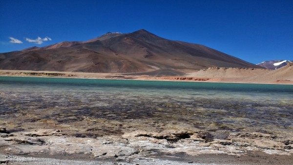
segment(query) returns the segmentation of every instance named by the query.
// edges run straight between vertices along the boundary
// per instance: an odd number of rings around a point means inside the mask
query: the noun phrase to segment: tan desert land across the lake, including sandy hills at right
[[[183,72],[186,73],[183,73]],[[162,76],[164,74],[173,76]],[[194,70],[156,70],[143,73],[85,73],[59,71],[0,70],[0,76],[125,79],[152,81],[232,82],[293,84],[293,64],[276,70],[261,68],[210,67]]]

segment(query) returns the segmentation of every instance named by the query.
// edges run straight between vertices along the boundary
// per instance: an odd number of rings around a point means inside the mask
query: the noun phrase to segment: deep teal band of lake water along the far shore
[[[167,82],[167,81],[135,81],[135,80],[102,80],[102,79],[70,79],[70,78],[37,78],[37,77],[0,77],[1,83],[32,84],[67,84],[95,86],[156,87],[156,88],[190,88],[220,89],[238,91],[280,91],[293,92],[293,85],[251,84],[251,83],[209,83],[209,82]]]

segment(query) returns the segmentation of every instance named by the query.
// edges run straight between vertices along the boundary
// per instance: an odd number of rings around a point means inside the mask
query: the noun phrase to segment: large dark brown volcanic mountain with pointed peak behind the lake
[[[64,41],[0,53],[0,69],[7,70],[169,75],[213,66],[260,67],[204,45],[163,39],[146,30],[109,32],[89,41]]]

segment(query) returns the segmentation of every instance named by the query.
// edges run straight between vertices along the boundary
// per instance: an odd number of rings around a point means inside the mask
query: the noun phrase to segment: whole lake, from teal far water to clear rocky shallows
[[[84,116],[292,136],[293,85],[0,77],[2,124]]]

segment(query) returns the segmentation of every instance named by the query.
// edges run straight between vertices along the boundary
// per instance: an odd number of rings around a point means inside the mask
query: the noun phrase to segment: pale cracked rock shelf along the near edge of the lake
[[[0,152],[12,155],[118,163],[131,163],[146,158],[164,158],[193,163],[203,155],[206,159],[201,160],[200,163],[211,163],[209,161],[219,161],[225,155],[227,158],[233,158],[232,163],[246,164],[250,162],[247,159],[248,156],[253,158],[251,157],[253,152],[257,153],[255,156],[259,158],[262,158],[259,154],[273,154],[271,155],[273,158],[284,158],[280,161],[292,161],[293,138],[259,132],[233,132],[223,140],[210,139],[209,134],[204,131],[185,130],[134,131],[122,135],[102,137],[83,137],[81,135],[78,137],[56,129],[10,132],[1,127]],[[211,154],[210,158],[207,156],[209,154]],[[215,155],[217,156],[215,157]],[[241,161],[241,157],[246,159]],[[7,156],[2,156],[1,159],[1,163],[9,162]],[[225,164],[225,161],[227,163],[231,160],[224,159],[222,163]],[[264,163],[262,159],[254,161],[256,161],[254,163]],[[221,164],[221,161],[216,163]]]

